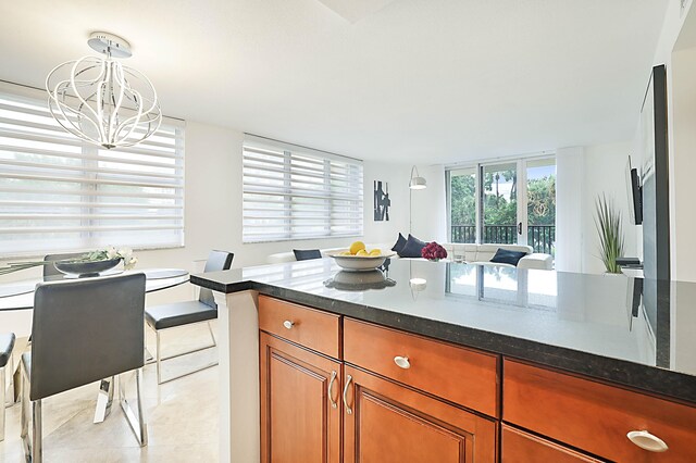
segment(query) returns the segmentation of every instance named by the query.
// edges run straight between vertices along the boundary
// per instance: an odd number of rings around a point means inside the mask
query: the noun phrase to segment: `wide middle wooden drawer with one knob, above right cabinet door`
[[[346,362],[498,416],[497,355],[350,318],[344,321],[344,355]]]

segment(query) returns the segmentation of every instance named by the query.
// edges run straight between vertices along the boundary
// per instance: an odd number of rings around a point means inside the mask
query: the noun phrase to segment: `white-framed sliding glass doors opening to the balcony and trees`
[[[447,187],[452,242],[529,245],[555,254],[555,158],[448,170]]]

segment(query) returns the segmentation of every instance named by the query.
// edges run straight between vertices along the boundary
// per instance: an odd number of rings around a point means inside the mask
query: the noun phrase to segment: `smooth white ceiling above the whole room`
[[[346,2],[347,0],[343,0]],[[0,79],[128,39],[165,114],[419,163],[633,137],[667,0],[0,2]],[[353,17],[350,16],[350,17]]]

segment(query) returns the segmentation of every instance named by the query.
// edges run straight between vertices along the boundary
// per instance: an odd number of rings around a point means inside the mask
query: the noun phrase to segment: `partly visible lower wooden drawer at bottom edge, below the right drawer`
[[[599,463],[599,460],[520,429],[502,425],[502,460],[514,463]]]

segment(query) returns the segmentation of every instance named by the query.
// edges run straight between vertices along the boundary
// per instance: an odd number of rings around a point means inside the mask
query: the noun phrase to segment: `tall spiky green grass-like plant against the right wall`
[[[621,273],[617,258],[623,255],[623,227],[621,211],[605,195],[595,201],[595,225],[599,234],[599,259],[607,273]]]

